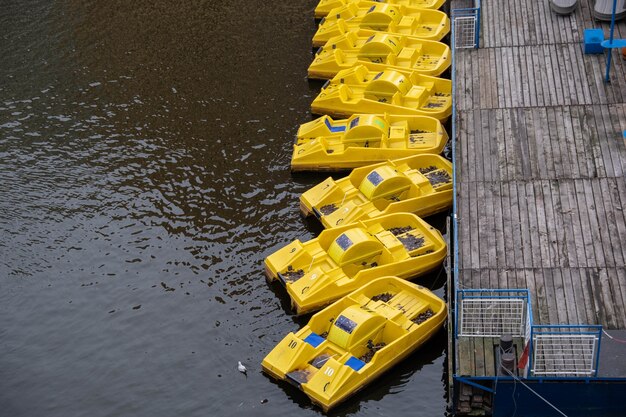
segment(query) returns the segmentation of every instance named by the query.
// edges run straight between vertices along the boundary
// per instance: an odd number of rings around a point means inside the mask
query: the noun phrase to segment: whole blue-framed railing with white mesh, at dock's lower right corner
[[[533,325],[530,377],[598,375],[602,326]]]

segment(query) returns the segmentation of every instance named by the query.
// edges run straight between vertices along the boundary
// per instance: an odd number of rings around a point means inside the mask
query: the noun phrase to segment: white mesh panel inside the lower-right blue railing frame
[[[533,334],[532,376],[593,376],[599,337]]]

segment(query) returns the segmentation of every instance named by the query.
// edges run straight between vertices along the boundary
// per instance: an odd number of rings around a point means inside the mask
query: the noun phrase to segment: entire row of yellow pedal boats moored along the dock
[[[325,230],[265,259],[296,314],[315,313],[263,359],[325,411],[353,395],[443,325],[445,302],[412,279],[447,254],[422,220],[452,203],[448,136],[450,66],[439,42],[445,0],[321,0],[310,78],[328,79],[313,100],[320,118],[300,126],[292,171],[352,172],[300,197]]]

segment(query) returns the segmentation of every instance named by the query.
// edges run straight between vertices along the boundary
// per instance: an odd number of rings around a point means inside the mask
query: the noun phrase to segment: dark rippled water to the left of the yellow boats
[[[0,417],[320,414],[260,372],[304,323],[262,259],[320,230],[315,1],[0,6]],[[444,415],[444,346],[336,413]]]

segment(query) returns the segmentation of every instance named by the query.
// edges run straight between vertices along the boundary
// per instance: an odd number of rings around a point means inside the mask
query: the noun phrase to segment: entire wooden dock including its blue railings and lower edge
[[[452,18],[468,3],[451,0]],[[585,29],[609,33],[593,19],[593,3],[580,0],[572,15],[559,16],[548,0],[483,0],[480,48],[455,50],[450,371],[458,414],[512,415],[515,406],[518,416],[559,415],[548,402],[568,416],[595,415],[587,406],[623,413],[599,404],[626,395],[626,344],[617,341],[626,339],[626,60],[612,52],[605,83],[605,53],[584,53]],[[626,22],[615,37],[626,38]],[[463,334],[471,314],[460,310],[463,291],[467,305],[493,301],[474,319],[495,320],[489,308],[503,299],[508,313],[519,300],[528,307],[512,335],[513,376],[500,371],[501,332],[482,323]],[[572,345],[550,345],[553,357],[533,345],[557,338]],[[532,404],[514,405],[514,395]]]

